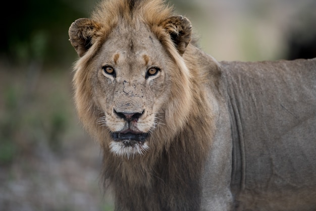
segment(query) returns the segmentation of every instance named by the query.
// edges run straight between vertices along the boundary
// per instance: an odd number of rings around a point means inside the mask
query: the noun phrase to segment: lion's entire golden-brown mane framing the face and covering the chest
[[[93,45],[74,68],[78,115],[102,146],[104,184],[113,188],[115,198],[120,201],[116,202],[117,210],[124,207],[134,207],[133,210],[190,210],[194,207],[198,210],[200,204],[200,176],[214,128],[209,112],[211,105],[206,102],[199,85],[205,79],[203,74],[207,73],[194,69],[198,52],[191,44],[183,57],[177,52],[176,44],[166,33],[167,23],[164,23],[172,15],[172,8],[165,6],[162,0],[101,2],[91,17],[99,23],[95,26],[97,35],[91,38]],[[175,69],[181,71],[177,78],[171,79],[174,83],[172,102],[161,117],[166,124],[157,127],[150,137],[156,148],[143,156],[124,160],[110,153],[104,141],[110,139],[110,135],[97,123],[100,111],[89,100],[93,96],[87,70],[93,68],[96,52],[113,27],[118,24],[139,27],[138,22],[150,27],[173,59]]]

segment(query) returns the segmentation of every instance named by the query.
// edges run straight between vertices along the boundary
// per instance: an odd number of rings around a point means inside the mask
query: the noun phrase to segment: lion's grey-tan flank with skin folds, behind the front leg
[[[315,209],[316,60],[221,67],[236,199],[252,210]]]

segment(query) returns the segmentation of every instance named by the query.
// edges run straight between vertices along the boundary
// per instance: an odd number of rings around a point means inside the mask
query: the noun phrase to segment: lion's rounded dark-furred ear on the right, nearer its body
[[[164,28],[170,34],[179,53],[183,55],[191,41],[192,25],[189,19],[183,16],[172,16],[164,22]]]

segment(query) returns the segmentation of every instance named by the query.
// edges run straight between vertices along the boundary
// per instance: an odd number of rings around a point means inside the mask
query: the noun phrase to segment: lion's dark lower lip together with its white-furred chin
[[[148,134],[133,134],[133,133],[113,133],[114,139],[110,143],[110,151],[118,156],[133,159],[136,155],[143,155],[149,146],[145,142]]]

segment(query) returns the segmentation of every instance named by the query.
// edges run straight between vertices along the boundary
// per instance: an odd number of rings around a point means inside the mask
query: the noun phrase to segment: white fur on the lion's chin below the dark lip
[[[118,156],[126,156],[127,159],[134,158],[135,155],[143,155],[149,146],[146,142],[143,144],[135,143],[133,146],[126,146],[123,141],[111,141],[110,151]]]

